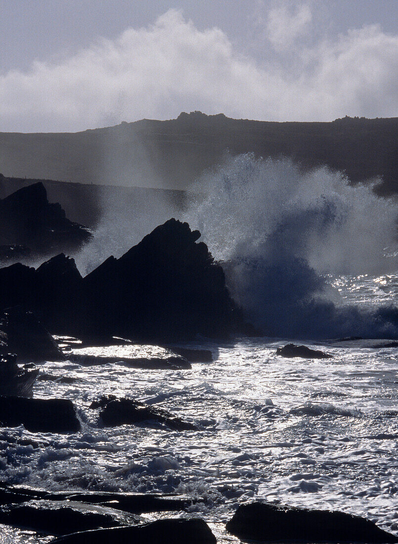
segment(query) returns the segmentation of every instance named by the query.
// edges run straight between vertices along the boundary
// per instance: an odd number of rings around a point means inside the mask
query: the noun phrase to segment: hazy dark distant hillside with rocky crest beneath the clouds
[[[231,153],[293,157],[326,164],[353,182],[381,176],[382,194],[398,194],[398,118],[267,122],[182,113],[78,133],[0,133],[5,176],[78,183],[185,189]]]

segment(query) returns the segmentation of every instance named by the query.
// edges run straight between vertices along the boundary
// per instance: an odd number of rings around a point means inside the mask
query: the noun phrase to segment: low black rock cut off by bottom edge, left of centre
[[[55,542],[64,544],[216,544],[208,525],[199,518],[158,520],[135,527],[85,531]]]

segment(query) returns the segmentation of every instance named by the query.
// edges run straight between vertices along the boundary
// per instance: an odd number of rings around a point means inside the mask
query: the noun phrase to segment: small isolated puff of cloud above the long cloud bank
[[[289,9],[287,4],[280,4],[268,13],[268,39],[276,50],[287,49],[307,32],[311,21],[312,13],[307,4],[295,10]]]

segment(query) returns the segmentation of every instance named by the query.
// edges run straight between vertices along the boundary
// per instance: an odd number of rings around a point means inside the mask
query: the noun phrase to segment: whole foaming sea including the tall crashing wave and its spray
[[[184,370],[43,363],[47,378],[39,376],[34,397],[71,399],[82,430],[0,429],[0,478],[46,490],[186,494],[192,506],[177,515],[202,517],[220,543],[238,542],[223,524],[253,500],[349,512],[398,535],[396,201],[339,172],[251,155],[227,157],[198,187],[181,219],[225,265],[260,336],[182,344],[213,353],[213,362]],[[110,224],[117,211],[104,213],[108,231],[104,220],[76,256],[82,273],[168,218],[159,209],[147,222],[131,218],[128,236],[120,221]],[[332,358],[277,355],[290,342]],[[201,430],[104,428],[89,405],[109,393]],[[5,527],[0,536],[49,540]]]

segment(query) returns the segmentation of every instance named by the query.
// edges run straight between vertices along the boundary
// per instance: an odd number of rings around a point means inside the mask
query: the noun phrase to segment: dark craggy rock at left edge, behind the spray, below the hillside
[[[42,183],[0,200],[0,225],[0,258],[6,261],[76,250],[91,238],[85,227],[66,219],[58,203],[48,203]]]

